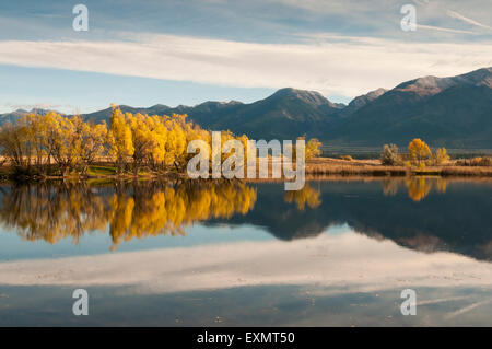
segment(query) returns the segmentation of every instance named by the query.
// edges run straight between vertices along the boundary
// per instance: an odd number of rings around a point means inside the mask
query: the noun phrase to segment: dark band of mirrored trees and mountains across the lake
[[[280,183],[130,182],[1,187],[0,223],[26,241],[55,244],[106,231],[116,248],[150,235],[185,235],[192,223],[253,224],[280,240],[332,225],[426,253],[492,259],[492,185],[442,178]]]

